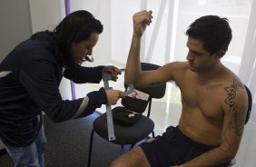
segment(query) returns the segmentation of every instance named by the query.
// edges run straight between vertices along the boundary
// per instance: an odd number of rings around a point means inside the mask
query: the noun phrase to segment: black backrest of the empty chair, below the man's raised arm
[[[156,65],[156,64],[147,64],[147,63],[141,63],[141,65],[142,65],[143,71],[156,70],[160,67],[159,65]],[[152,99],[153,98],[160,99],[164,96],[166,83],[161,83],[161,84],[157,84],[149,87],[143,87],[143,88],[134,87],[134,89],[141,91],[143,93],[149,94],[148,101],[126,97],[126,98],[123,98],[121,101],[123,106],[125,106],[126,108],[136,113],[143,113],[149,103],[148,114],[147,114],[147,116],[149,117],[151,112]]]

